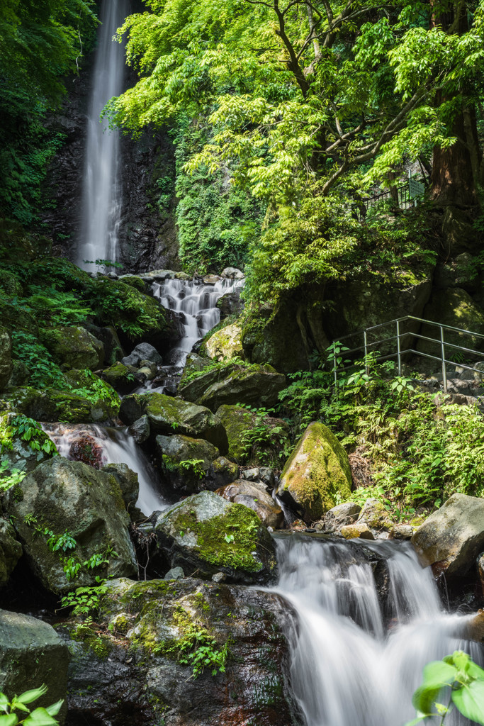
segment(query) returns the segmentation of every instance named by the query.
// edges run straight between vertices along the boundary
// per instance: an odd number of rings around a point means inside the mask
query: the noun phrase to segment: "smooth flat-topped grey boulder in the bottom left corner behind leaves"
[[[0,610],[0,691],[9,698],[46,685],[33,706],[65,699],[69,650],[54,628],[42,620]],[[64,722],[67,703],[57,717]]]

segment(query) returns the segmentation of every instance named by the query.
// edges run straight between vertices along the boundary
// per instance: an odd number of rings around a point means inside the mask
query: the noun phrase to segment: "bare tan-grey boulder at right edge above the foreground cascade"
[[[453,494],[411,538],[435,575],[463,576],[484,550],[484,499]]]

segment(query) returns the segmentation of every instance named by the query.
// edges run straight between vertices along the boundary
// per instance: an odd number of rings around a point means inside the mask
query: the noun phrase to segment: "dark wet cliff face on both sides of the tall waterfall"
[[[65,135],[52,161],[44,188],[41,221],[52,236],[54,254],[75,261],[82,214],[82,180],[86,147],[86,116],[94,54],[79,76],[67,78],[62,110],[49,126]],[[134,83],[128,78],[126,86]],[[167,131],[146,131],[134,142],[121,140],[123,208],[119,227],[119,258],[123,272],[180,269],[174,221],[174,147]]]

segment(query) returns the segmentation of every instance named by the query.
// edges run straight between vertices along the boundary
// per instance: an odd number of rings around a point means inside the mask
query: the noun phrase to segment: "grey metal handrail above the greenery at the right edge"
[[[422,335],[422,333],[412,333],[412,332],[401,332],[401,323],[406,322],[408,320],[423,323],[424,325],[433,325],[434,327],[438,327],[439,329],[439,336],[438,338],[429,338],[428,335]],[[386,327],[388,325],[395,325],[396,334],[395,335],[387,335],[386,338],[380,338],[380,340],[375,341],[369,341],[368,340],[368,334],[373,332],[374,330],[378,330],[381,327]],[[348,335],[343,335],[342,338],[338,339],[338,342],[342,342],[343,340],[348,340],[348,338],[355,338],[358,335],[363,335],[364,343],[362,346],[358,346],[356,348],[350,348],[345,351],[346,355],[350,355],[353,353],[358,352],[364,352],[364,359],[366,361],[366,357],[369,354],[369,348],[373,348],[374,346],[379,346],[381,343],[389,343],[392,340],[396,340],[396,351],[394,353],[390,353],[384,356],[377,356],[375,359],[376,362],[381,362],[384,360],[388,360],[390,358],[396,358],[398,362],[398,375],[401,375],[402,371],[402,357],[406,354],[414,354],[417,356],[422,356],[423,358],[430,358],[432,360],[438,360],[440,361],[441,367],[442,367],[442,380],[443,380],[443,391],[444,393],[447,393],[447,365],[456,365],[455,361],[450,361],[446,358],[446,348],[453,348],[456,351],[462,351],[463,353],[470,353],[477,356],[482,356],[484,358],[484,352],[483,351],[476,351],[474,348],[467,348],[465,346],[457,346],[455,343],[451,343],[450,340],[446,341],[444,336],[445,330],[452,330],[454,333],[464,334],[464,335],[472,335],[473,338],[482,338],[484,340],[484,334],[483,333],[475,333],[472,330],[465,330],[462,327],[454,327],[453,325],[445,325],[444,323],[435,322],[435,320],[427,320],[425,318],[419,318],[415,317],[414,315],[405,315],[404,317],[395,318],[393,320],[388,320],[387,322],[379,323],[378,325],[372,325],[371,327],[366,327],[364,330],[358,330],[356,333],[349,333]],[[408,338],[411,336],[411,338],[419,338],[419,340],[428,340],[430,343],[437,343],[440,346],[440,356],[432,356],[429,353],[423,353],[422,351],[416,351],[414,348],[406,348],[405,350],[402,350],[401,341],[404,338]],[[472,370],[476,373],[481,373],[484,375],[484,371],[479,370],[478,368],[474,368],[472,366],[468,366],[465,364],[458,364],[462,368],[465,368],[466,370]],[[343,366],[343,367],[337,367],[336,362],[336,356],[334,358],[334,365],[333,365],[333,373],[335,377],[335,385],[337,384],[337,374],[340,372],[343,372],[345,370],[350,370],[351,368],[354,368],[355,364],[351,364],[349,366]],[[368,372],[368,368],[366,367],[366,372]]]

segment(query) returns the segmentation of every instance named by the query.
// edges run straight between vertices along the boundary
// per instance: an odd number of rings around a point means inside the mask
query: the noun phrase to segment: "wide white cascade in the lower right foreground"
[[[369,544],[387,559],[385,617],[357,544],[293,535],[276,546],[276,592],[296,613],[290,676],[306,726],[403,726],[415,717],[411,696],[425,664],[457,649],[480,662],[482,646],[464,638],[472,616],[443,611],[410,544]],[[468,723],[457,711],[446,717],[446,726]]]

